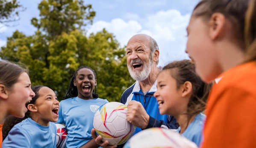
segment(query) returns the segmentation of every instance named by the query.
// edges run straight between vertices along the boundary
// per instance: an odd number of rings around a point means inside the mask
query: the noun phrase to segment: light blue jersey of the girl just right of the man
[[[203,113],[197,114],[193,122],[188,125],[188,128],[182,133],[187,139],[195,142],[199,147],[202,142],[203,137],[203,126],[206,119],[206,115]],[[180,127],[177,129],[177,132],[180,132]]]

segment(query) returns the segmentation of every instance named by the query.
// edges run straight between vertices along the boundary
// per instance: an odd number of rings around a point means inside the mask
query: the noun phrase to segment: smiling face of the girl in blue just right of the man
[[[188,104],[186,99],[182,98],[182,87],[177,88],[175,78],[171,76],[172,70],[163,70],[157,77],[157,91],[154,97],[159,103],[160,114],[178,116],[186,112]]]

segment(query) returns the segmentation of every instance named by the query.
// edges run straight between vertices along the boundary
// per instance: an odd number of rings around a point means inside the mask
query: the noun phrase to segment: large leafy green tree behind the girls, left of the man
[[[82,0],[43,0],[38,6],[40,18],[32,18],[34,35],[16,31],[2,47],[0,57],[29,67],[32,85],[46,85],[65,95],[75,70],[86,65],[97,75],[100,98],[119,101],[134,81],[126,65],[125,49],[111,33],[85,35],[82,29],[92,23],[95,12]]]

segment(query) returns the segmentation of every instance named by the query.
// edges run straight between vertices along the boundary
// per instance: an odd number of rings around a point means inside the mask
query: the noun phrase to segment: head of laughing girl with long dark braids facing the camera
[[[79,98],[94,99],[92,93],[95,85],[97,85],[97,81],[93,71],[88,68],[82,68],[77,71],[74,86],[77,87]]]

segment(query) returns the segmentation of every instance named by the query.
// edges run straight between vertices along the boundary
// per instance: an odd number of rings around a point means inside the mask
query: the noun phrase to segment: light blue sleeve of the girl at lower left
[[[12,128],[4,139],[3,148],[30,148],[31,139],[24,128]]]

